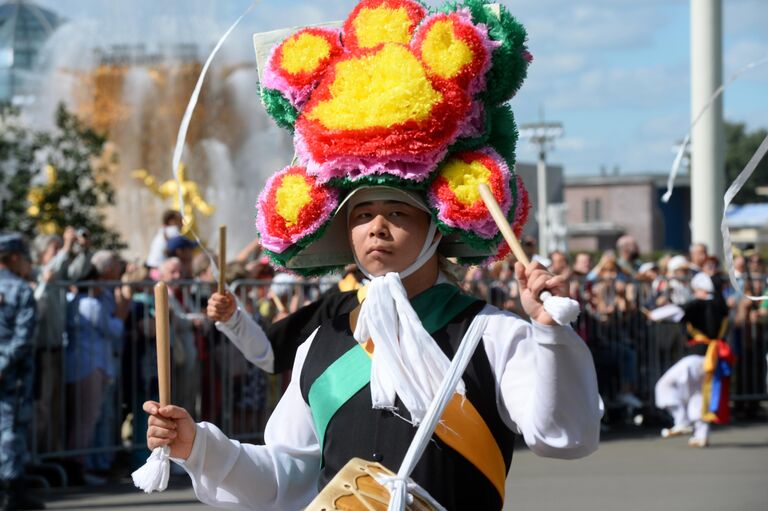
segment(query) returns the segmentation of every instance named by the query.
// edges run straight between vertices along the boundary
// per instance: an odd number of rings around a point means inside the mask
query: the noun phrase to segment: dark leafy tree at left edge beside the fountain
[[[123,248],[105,223],[105,209],[115,204],[102,158],[106,137],[64,105],[55,116],[53,130],[38,131],[24,127],[17,111],[0,110],[0,230],[32,238],[71,225],[90,231],[94,247]]]

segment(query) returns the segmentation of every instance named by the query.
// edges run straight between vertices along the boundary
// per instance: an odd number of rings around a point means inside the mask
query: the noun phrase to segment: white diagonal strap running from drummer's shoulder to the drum
[[[427,444],[432,439],[432,433],[437,427],[437,423],[443,416],[443,411],[448,405],[454,394],[454,389],[461,383],[461,376],[464,374],[464,370],[467,368],[469,361],[472,359],[472,355],[483,338],[483,332],[488,324],[488,316],[484,314],[478,314],[472,323],[469,325],[467,332],[459,344],[459,349],[456,351],[456,355],[451,361],[451,365],[448,371],[445,373],[445,377],[440,384],[440,387],[435,394],[434,399],[429,404],[429,409],[424,417],[424,421],[416,430],[411,445],[408,447],[408,451],[405,453],[403,462],[400,464],[400,470],[397,471],[397,476],[392,477],[387,482],[387,488],[390,490],[391,498],[389,500],[389,507],[387,511],[404,511],[405,505],[408,502],[409,477],[413,469],[416,468],[421,455],[424,453]],[[376,350],[378,351],[378,346]],[[423,491],[423,490],[422,490]],[[439,508],[442,509],[442,508]]]

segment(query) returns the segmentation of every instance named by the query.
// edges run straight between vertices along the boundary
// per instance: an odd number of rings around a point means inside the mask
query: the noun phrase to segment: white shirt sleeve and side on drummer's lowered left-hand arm
[[[317,330],[296,354],[293,378],[264,434],[264,445],[230,440],[216,426],[202,422],[185,468],[197,498],[228,509],[284,511],[303,509],[317,495],[320,444],[309,406],[301,396],[299,376]]]

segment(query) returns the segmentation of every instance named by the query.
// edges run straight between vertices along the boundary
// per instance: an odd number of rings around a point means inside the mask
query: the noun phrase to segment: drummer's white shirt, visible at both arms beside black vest
[[[571,459],[594,452],[602,403],[584,341],[570,327],[531,324],[491,305],[482,313],[491,316],[482,345],[505,424],[540,456]],[[189,473],[202,502],[289,511],[315,497],[321,452],[299,375],[316,333],[299,347],[293,379],[267,423],[265,445],[241,444],[212,424],[197,425],[189,458],[175,461]]]

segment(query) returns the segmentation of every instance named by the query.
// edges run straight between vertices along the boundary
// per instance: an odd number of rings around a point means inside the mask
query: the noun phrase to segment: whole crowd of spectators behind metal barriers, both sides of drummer
[[[178,213],[166,212],[162,224],[144,263],[127,263],[109,251],[93,252],[88,233],[73,228],[63,236],[41,235],[32,243],[33,260],[25,277],[38,307],[34,451],[74,453],[89,482],[99,482],[114,465],[108,447],[120,441],[143,443],[144,421],[132,418],[142,401],[156,397],[154,281],[169,283],[177,404],[198,419],[229,424],[235,435],[254,434],[263,429],[285,384],[284,376],[267,376],[248,364],[213,328],[204,313],[216,286],[212,254],[181,235]],[[766,292],[765,262],[758,253],[735,257],[737,285],[732,286],[718,258],[701,244],[687,254],[648,260],[641,258],[630,236],[598,256],[555,251],[540,257],[529,236],[522,245],[552,273],[568,277],[571,297],[583,311],[574,326],[592,350],[607,404],[630,415],[648,405],[654,378],[675,361],[685,335],[681,325],[651,324],[647,312],[690,300],[689,281],[699,271],[713,278],[731,309],[729,341],[743,373],[735,379],[734,391],[765,396],[762,324],[768,302],[744,298]],[[331,286],[349,288],[350,279],[356,283],[352,272],[343,279],[323,280],[275,273],[256,241],[223,271],[227,282],[239,283],[236,294],[243,310],[265,326]],[[450,265],[446,271],[466,292],[524,314],[513,260],[469,269]],[[134,466],[145,456],[135,452]]]

